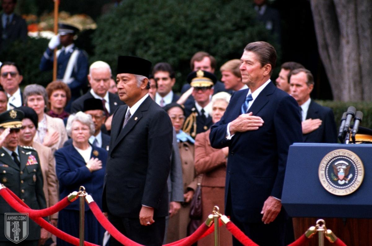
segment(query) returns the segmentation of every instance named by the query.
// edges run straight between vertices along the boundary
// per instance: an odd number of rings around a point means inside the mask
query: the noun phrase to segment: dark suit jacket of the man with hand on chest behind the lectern
[[[321,126],[313,132],[304,135],[305,143],[337,143],[336,122],[333,111],[310,101],[306,119],[321,119]]]

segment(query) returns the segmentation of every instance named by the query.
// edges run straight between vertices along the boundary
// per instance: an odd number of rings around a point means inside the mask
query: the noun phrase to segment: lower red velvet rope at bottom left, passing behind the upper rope
[[[0,189],[0,194],[1,194],[1,191],[2,190],[5,190],[5,189]],[[29,206],[26,203],[24,203],[19,197],[17,197],[17,195],[14,194],[13,191],[9,190],[9,188],[6,188],[6,191],[9,192],[9,194],[12,195],[12,197],[15,198],[15,200],[18,203],[20,203],[21,205],[23,205],[23,209],[29,208]],[[12,203],[12,204],[9,204],[9,205],[11,207],[13,207],[14,204]],[[15,207],[13,207],[13,208],[16,211],[18,211],[19,213],[24,213],[21,210],[17,210]],[[65,240],[66,242],[71,243],[71,244],[76,245],[76,246],[79,245],[80,240],[78,238],[73,237],[70,234],[67,234],[65,232],[62,232],[60,229],[55,228],[54,226],[52,226],[51,224],[49,224],[46,220],[44,220],[42,218],[31,218],[31,219],[33,221],[35,221],[39,226],[43,227],[48,232],[54,234],[55,236],[59,237],[60,239]],[[86,241],[84,241],[84,245],[85,246],[98,246],[98,245],[96,245],[94,243],[89,243],[89,242],[86,242]]]

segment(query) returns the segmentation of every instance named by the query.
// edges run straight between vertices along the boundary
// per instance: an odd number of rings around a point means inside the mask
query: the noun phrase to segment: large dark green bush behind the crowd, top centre
[[[95,55],[116,71],[118,55],[168,62],[176,71],[176,90],[190,72],[190,58],[206,51],[224,62],[240,58],[245,45],[272,40],[255,20],[250,1],[126,0],[102,16],[93,34]],[[272,43],[272,42],[271,42]]]

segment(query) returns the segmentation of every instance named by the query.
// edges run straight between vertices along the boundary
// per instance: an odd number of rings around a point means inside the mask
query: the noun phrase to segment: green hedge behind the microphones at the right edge
[[[347,111],[349,106],[354,106],[357,111],[362,111],[363,120],[362,123],[360,123],[360,126],[372,129],[372,102],[316,101],[317,103],[330,107],[333,110],[337,130],[340,127],[342,114]]]

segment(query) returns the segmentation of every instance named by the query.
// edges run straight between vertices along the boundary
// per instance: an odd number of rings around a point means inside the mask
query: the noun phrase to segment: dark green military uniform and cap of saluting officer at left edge
[[[3,114],[0,114],[0,127],[9,127],[9,124],[4,126]],[[21,112],[22,113],[22,112]],[[21,114],[23,118],[23,113]],[[14,115],[13,115],[14,117]],[[15,119],[16,120],[16,119]],[[22,120],[22,119],[20,119]],[[21,125],[22,126],[22,125]],[[18,127],[9,127],[11,129],[19,129]],[[24,201],[32,209],[43,209],[47,207],[43,191],[43,177],[38,153],[35,149],[28,146],[18,146],[18,166],[12,156],[4,149],[0,148],[0,183],[12,190],[22,201]],[[17,150],[15,150],[17,152]],[[4,234],[4,213],[17,213],[7,202],[0,197],[0,245],[12,243],[5,237]],[[40,226],[29,219],[28,236],[21,245],[28,245],[27,241],[35,241],[40,239]],[[37,241],[36,241],[37,242]],[[31,243],[31,245],[34,242]]]

